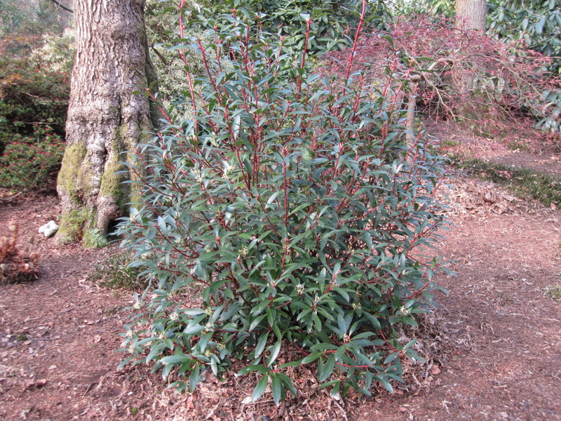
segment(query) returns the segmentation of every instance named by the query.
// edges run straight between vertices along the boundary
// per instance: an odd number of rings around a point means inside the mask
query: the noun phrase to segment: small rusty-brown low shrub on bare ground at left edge
[[[39,274],[39,256],[31,250],[18,249],[18,224],[12,223],[10,230],[11,236],[0,238],[0,285],[33,281]]]

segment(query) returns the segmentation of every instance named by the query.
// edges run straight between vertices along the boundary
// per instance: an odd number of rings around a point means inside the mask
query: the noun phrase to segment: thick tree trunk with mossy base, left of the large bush
[[[145,0],[76,0],[76,62],[58,175],[60,241],[88,229],[107,234],[135,192],[120,161],[151,138],[154,114],[144,91],[154,78],[144,27]],[[117,173],[125,171],[124,173]]]

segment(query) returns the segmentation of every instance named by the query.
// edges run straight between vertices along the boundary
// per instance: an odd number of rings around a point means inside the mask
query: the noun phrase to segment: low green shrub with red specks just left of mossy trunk
[[[32,189],[56,173],[65,152],[65,142],[50,131],[36,126],[35,136],[13,135],[0,156],[0,186]]]

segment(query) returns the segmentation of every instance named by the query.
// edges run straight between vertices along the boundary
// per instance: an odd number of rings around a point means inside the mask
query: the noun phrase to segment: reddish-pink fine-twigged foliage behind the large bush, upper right
[[[350,48],[323,60],[324,74],[344,74]],[[550,111],[543,92],[559,89],[560,78],[546,72],[550,58],[514,43],[476,32],[458,31],[451,20],[426,15],[403,18],[389,31],[364,34],[351,71],[377,87],[387,77],[410,88],[434,119],[461,116],[480,129],[522,114]],[[398,88],[400,89],[400,88]]]

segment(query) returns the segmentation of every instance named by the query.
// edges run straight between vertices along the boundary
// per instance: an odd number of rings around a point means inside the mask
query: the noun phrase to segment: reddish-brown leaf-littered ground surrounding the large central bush
[[[536,139],[520,152],[447,138],[457,140],[454,153],[561,174],[561,149]],[[39,279],[0,286],[0,420],[561,420],[561,213],[491,182],[454,175],[451,183],[453,226],[440,251],[457,276],[438,279],[449,294],[438,297],[421,340],[428,365],[395,394],[339,400],[310,373],[297,380],[300,396],[280,406],[270,394],[243,403],[255,385],[247,376],[208,376],[180,395],[149,367],[116,371],[132,294],[91,276],[116,250],[41,238],[37,229],[60,211],[53,195],[0,201],[0,236],[18,222],[20,246],[34,237],[41,255]]]

